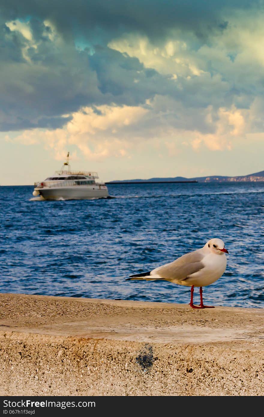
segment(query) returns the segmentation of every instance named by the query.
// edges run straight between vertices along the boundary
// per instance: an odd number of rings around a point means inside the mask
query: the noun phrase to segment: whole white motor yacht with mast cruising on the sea
[[[65,170],[65,166],[68,169]],[[96,182],[97,172],[71,171],[69,152],[67,161],[60,171],[52,177],[34,184],[33,196],[42,196],[45,200],[87,200],[90,198],[108,197],[108,188],[103,182]]]

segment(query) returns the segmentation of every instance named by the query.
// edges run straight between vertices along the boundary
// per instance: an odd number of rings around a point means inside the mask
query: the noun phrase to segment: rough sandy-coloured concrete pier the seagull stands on
[[[0,395],[264,394],[264,309],[0,294]]]

